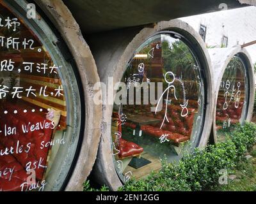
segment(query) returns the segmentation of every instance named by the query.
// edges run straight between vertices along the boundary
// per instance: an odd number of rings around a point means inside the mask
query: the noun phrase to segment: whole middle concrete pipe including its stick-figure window
[[[159,170],[165,156],[173,162],[205,147],[214,108],[211,62],[188,24],[171,20],[88,39],[101,82],[115,86],[113,92],[102,89],[95,180],[116,190],[131,177]]]

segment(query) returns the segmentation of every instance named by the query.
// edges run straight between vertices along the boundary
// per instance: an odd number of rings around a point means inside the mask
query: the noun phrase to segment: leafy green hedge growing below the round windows
[[[225,142],[208,145],[205,150],[195,149],[177,163],[163,159],[159,172],[152,172],[145,179],[131,179],[118,191],[202,191],[218,186],[220,170],[230,174],[236,166],[244,175],[251,176],[254,168],[241,161],[244,153],[256,143],[255,133],[255,124],[237,125],[232,133],[226,133]],[[88,182],[84,189],[92,190]]]

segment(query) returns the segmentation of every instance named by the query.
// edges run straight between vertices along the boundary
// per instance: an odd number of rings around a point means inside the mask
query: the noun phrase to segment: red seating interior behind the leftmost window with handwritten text
[[[22,184],[31,185],[29,170],[39,183],[51,170],[58,152],[52,144],[67,129],[66,98],[58,67],[42,42],[10,10],[1,5],[0,11],[1,19],[19,22],[16,29],[1,27],[1,36],[23,43],[0,52],[0,85],[7,87],[0,102],[0,191],[21,191]]]

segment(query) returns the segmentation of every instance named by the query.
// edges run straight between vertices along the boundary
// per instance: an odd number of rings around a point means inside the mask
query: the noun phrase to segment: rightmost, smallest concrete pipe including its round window
[[[214,70],[214,142],[225,139],[232,124],[250,121],[254,104],[254,71],[250,55],[241,47],[209,49]]]

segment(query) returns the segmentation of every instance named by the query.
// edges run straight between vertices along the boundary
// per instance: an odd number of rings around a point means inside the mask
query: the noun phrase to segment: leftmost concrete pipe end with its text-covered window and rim
[[[99,77],[67,7],[37,3],[0,1],[0,191],[82,190],[99,145]]]

